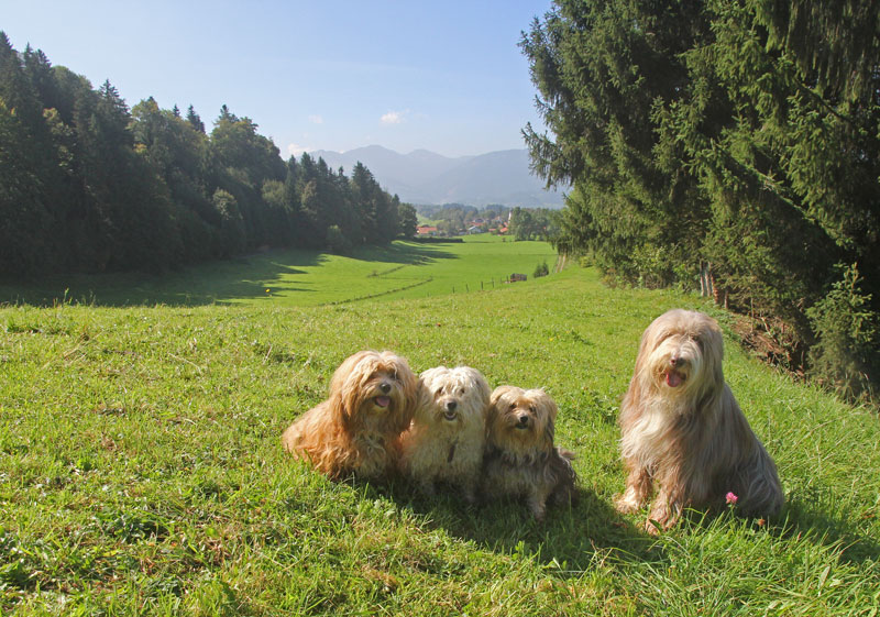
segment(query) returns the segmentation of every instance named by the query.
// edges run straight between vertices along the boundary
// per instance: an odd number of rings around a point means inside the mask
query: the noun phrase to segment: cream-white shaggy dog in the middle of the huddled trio
[[[476,368],[437,366],[419,377],[419,404],[400,438],[402,469],[427,495],[443,482],[473,503],[483,465],[490,387]]]

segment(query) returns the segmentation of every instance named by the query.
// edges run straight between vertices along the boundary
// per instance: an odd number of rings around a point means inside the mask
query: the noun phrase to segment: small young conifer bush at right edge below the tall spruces
[[[806,310],[817,342],[810,349],[810,374],[853,400],[873,400],[880,377],[880,316],[870,308],[871,296],[861,291],[856,265],[825,298]]]

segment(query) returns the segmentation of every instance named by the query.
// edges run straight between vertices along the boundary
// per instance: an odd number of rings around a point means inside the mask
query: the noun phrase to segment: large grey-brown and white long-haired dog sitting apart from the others
[[[646,529],[672,527],[683,508],[738,497],[745,515],[782,506],[777,467],[724,382],[718,324],[696,311],[671,310],[641,337],[636,370],[620,406],[620,449],[629,471],[616,499],[635,513],[651,497]]]

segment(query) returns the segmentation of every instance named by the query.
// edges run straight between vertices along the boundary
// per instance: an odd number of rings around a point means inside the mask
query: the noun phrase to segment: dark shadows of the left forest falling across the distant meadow
[[[351,257],[399,266],[458,258],[443,246],[395,242],[388,246],[360,247]],[[293,286],[280,282],[280,278],[285,275],[305,274],[298,268],[317,266],[324,260],[327,256],[317,251],[275,250],[186,266],[161,275],[52,275],[38,283],[0,283],[0,302],[43,307],[65,301],[102,307],[204,306],[272,297],[282,291],[309,294],[311,290],[308,287]]]

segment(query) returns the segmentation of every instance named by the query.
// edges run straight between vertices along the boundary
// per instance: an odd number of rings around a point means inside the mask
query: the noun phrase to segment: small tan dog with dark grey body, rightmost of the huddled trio
[[[499,386],[487,418],[483,491],[488,498],[525,497],[537,520],[547,499],[570,503],[578,476],[571,452],[553,445],[557,405],[542,389]]]

